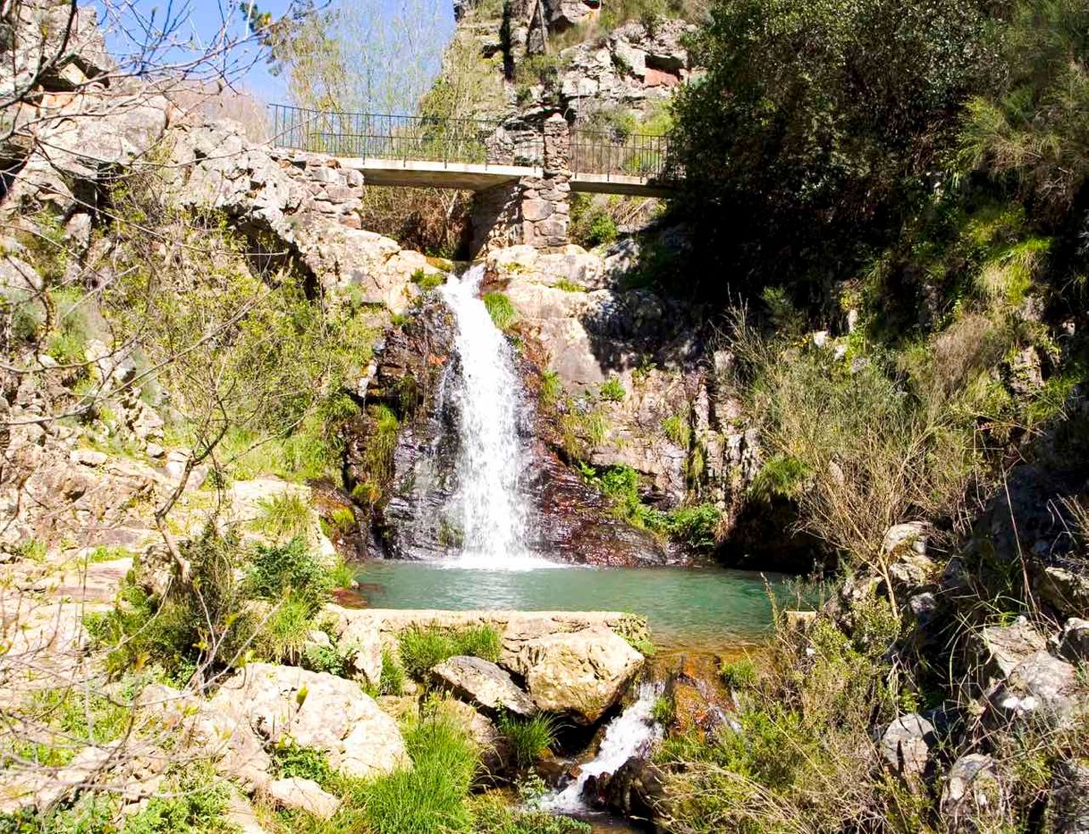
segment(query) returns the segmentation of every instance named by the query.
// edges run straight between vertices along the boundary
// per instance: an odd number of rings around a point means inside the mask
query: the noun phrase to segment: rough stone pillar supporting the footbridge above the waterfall
[[[473,208],[473,256],[502,246],[549,249],[567,244],[571,221],[571,131],[559,113],[543,124],[541,176],[479,192]]]

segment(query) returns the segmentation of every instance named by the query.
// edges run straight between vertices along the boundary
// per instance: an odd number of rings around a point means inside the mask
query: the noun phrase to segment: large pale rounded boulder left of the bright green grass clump
[[[250,771],[250,755],[281,743],[321,750],[334,770],[357,778],[409,766],[393,719],[358,684],[323,672],[250,663],[223,684],[209,712],[211,738],[225,739],[229,755],[243,748],[234,760]]]

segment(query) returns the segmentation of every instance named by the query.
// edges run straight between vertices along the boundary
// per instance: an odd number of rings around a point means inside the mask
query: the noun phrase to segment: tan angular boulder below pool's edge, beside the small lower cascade
[[[503,641],[503,665],[522,675],[538,708],[592,724],[612,707],[644,659],[609,628]]]

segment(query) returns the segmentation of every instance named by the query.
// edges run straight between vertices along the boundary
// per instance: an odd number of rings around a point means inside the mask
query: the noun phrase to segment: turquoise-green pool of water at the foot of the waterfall
[[[766,574],[776,591],[782,577]],[[663,647],[723,648],[763,640],[771,622],[759,574],[721,568],[487,571],[380,561],[360,567],[371,608],[629,611]]]

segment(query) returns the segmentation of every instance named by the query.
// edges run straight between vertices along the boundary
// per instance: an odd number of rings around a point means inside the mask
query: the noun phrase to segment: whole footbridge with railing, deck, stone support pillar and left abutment
[[[572,192],[669,196],[664,136],[573,128],[558,112],[505,121],[271,106],[272,145],[332,210],[366,185],[475,192],[473,254],[567,243]]]

